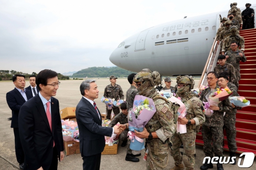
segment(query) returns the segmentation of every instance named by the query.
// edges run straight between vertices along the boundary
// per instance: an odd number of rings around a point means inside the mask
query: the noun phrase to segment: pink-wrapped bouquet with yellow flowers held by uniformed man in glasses
[[[207,117],[211,117],[213,114],[213,110],[209,109],[210,105],[218,106],[218,104],[221,103],[221,101],[227,99],[232,94],[233,92],[231,92],[231,90],[228,87],[226,87],[225,89],[217,88],[216,90],[210,91],[205,96],[208,102],[203,102],[205,108],[205,115]]]

